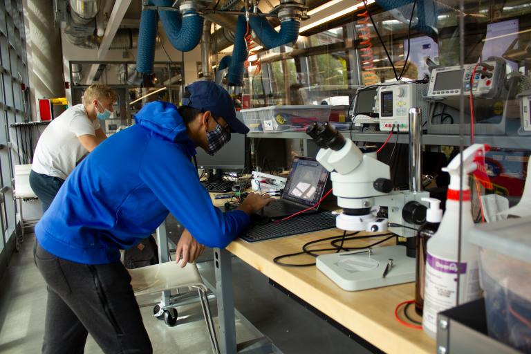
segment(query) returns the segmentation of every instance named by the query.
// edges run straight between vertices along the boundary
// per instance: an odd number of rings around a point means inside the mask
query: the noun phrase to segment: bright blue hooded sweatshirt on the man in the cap
[[[149,236],[168,212],[209,247],[224,248],[248,225],[245,212],[212,205],[176,106],[151,102],[135,119],[89,153],[59,189],[35,227],[48,252],[77,263],[117,262],[120,249]]]

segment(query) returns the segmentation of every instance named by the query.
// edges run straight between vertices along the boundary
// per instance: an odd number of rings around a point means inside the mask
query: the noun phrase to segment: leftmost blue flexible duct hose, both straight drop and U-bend
[[[155,6],[171,7],[173,3],[173,0],[149,1],[149,5]],[[198,1],[183,1],[180,3],[179,12],[158,11],[166,35],[177,50],[188,52],[199,44],[203,33],[203,17],[199,14],[202,6]],[[158,20],[155,10],[142,11],[137,55],[137,70],[140,73],[153,72],[157,26]]]

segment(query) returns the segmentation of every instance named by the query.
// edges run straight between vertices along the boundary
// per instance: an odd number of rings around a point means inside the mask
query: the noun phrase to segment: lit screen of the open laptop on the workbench
[[[282,192],[282,199],[315,205],[322,198],[328,171],[315,158],[296,157]]]

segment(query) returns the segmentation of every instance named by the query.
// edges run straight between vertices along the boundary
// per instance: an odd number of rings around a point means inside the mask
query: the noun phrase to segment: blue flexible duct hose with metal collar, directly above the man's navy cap
[[[288,3],[288,0],[281,0],[278,12],[281,21],[279,32],[274,30],[269,21],[263,17],[250,17],[249,26],[254,30],[265,48],[276,48],[283,44],[297,41],[303,8],[304,4],[301,2]],[[232,51],[232,60],[229,67],[229,74],[227,75],[229,86],[243,86],[243,65],[248,58],[247,45],[243,38],[245,32],[247,32],[245,17],[239,15],[236,23],[236,33],[234,34],[234,50]]]

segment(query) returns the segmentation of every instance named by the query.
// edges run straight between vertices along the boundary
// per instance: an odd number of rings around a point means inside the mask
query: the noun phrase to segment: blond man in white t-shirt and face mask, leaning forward
[[[109,86],[95,84],[88,86],[82,100],[50,122],[35,147],[30,186],[43,212],[77,163],[106,139],[99,120],[111,117],[116,93]]]

